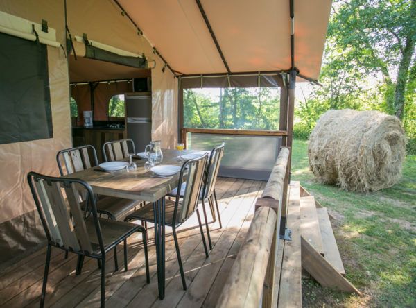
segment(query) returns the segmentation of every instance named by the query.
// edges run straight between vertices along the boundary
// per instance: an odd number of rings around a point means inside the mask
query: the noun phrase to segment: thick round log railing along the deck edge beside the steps
[[[275,269],[280,264],[277,250],[289,153],[288,148],[281,148],[263,194],[256,201],[254,219],[217,307],[277,307],[279,277],[275,277]]]

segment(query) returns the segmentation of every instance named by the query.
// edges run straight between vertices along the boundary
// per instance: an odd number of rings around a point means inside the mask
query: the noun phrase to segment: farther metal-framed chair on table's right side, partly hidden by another
[[[221,217],[220,217],[220,209],[218,207],[218,200],[216,198],[215,184],[216,184],[216,179],[218,177],[218,171],[220,169],[220,163],[224,155],[224,146],[225,144],[223,142],[220,146],[216,146],[215,148],[213,148],[211,151],[211,154],[209,155],[207,170],[205,173],[204,185],[202,187],[202,191],[201,191],[200,199],[199,199],[202,202],[202,211],[204,213],[205,226],[207,228],[209,249],[212,249],[212,243],[211,243],[211,235],[209,234],[209,225],[208,225],[208,219],[207,219],[207,210],[205,209],[205,201],[208,201],[209,208],[211,209],[212,219],[214,219],[214,221],[216,221],[214,204],[216,205],[216,210],[218,214],[218,222],[220,223],[220,228],[223,228],[223,223],[221,222]],[[182,186],[180,189],[181,198],[183,198],[184,196],[185,187],[186,187],[186,183],[182,183]],[[168,194],[168,196],[176,196],[176,194],[177,194],[177,188],[173,189],[173,191],[171,191],[171,193]]]

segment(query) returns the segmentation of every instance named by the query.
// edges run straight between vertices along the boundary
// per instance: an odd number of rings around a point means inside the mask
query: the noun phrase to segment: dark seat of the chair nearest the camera
[[[103,244],[105,252],[114,248],[114,246],[123,239],[126,239],[134,232],[146,232],[146,229],[141,225],[135,225],[134,223],[126,223],[124,221],[114,221],[112,219],[98,219],[100,222],[101,236],[103,237]],[[89,239],[92,243],[94,253],[101,253],[99,251],[98,237],[94,221],[92,217],[85,219],[85,227]]]

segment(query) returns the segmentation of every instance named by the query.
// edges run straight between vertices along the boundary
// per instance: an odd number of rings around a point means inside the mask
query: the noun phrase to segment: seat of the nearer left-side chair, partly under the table
[[[112,219],[119,219],[130,209],[138,206],[141,202],[124,198],[116,198],[111,196],[98,196],[96,207],[99,214],[105,214]],[[83,203],[81,203],[83,207]]]

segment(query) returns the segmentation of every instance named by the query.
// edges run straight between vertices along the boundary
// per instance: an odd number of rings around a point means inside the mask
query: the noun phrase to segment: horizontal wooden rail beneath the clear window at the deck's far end
[[[277,136],[286,137],[288,132],[285,130],[230,130],[230,129],[216,129],[216,128],[182,128],[181,138],[182,142],[187,145],[188,132],[196,134],[211,134],[211,135],[239,135],[239,136]]]

